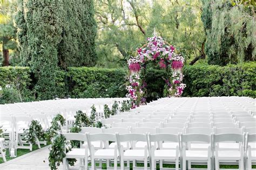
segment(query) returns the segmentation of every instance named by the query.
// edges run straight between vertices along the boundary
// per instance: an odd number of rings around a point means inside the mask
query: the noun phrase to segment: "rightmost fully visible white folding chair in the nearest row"
[[[244,144],[245,144],[245,133],[225,133],[225,134],[214,134],[214,147],[215,147],[215,169],[219,169],[220,162],[227,161],[239,161],[239,169],[244,169]],[[234,141],[242,143],[239,150],[221,150],[218,147],[218,143],[225,141]]]

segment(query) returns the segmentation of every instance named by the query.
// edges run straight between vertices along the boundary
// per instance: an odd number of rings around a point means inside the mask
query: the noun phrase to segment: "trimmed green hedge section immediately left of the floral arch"
[[[125,75],[123,69],[70,67],[69,94],[72,98],[124,97]]]

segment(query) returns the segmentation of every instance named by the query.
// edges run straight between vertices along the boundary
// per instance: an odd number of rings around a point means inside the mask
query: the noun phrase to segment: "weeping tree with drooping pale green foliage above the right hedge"
[[[235,1],[237,2],[237,1]],[[208,63],[227,65],[255,60],[254,6],[244,2],[202,0]]]

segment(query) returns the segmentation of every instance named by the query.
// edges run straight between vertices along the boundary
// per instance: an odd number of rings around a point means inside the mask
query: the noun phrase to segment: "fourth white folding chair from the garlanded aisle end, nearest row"
[[[178,143],[174,149],[166,149],[163,147],[159,147],[157,150],[156,146],[151,146],[151,169],[156,169],[156,161],[159,160],[160,168],[163,168],[163,160],[169,160],[175,162],[176,169],[179,169],[179,151],[180,151],[180,143],[179,143],[179,135],[178,134],[170,134],[170,133],[160,133],[160,134],[149,134],[149,142],[148,144],[159,143],[159,142],[167,142],[167,143]]]

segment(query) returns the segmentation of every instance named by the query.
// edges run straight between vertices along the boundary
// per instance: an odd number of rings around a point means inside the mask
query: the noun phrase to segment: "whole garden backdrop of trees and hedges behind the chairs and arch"
[[[183,96],[255,97],[254,9],[246,0],[2,0],[0,103],[124,97],[127,56],[154,30],[185,57]],[[162,76],[147,69],[147,100],[163,96]]]

